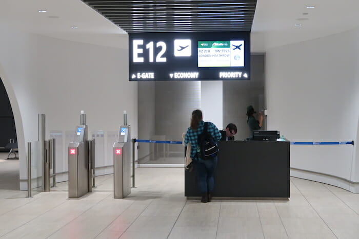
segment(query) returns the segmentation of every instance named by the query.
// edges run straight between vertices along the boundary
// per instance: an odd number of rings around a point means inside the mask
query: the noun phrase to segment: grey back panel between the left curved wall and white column
[[[201,81],[138,82],[138,139],[182,141],[191,112],[197,108],[201,108]],[[184,164],[185,149],[181,144],[138,143],[138,146],[140,167]]]

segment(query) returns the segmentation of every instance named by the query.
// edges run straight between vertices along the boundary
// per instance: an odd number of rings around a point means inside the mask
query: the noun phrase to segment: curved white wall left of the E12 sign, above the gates
[[[0,77],[14,112],[21,179],[27,178],[26,142],[37,140],[38,113],[46,114],[49,138],[54,129],[74,130],[81,110],[87,113],[89,132],[117,131],[126,110],[132,137],[137,138],[137,83],[128,81],[127,50],[2,25],[0,32]]]

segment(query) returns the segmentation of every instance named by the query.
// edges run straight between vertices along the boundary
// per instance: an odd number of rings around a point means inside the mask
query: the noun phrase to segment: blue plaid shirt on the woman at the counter
[[[196,153],[197,153],[197,146],[198,146],[198,135],[203,133],[203,129],[205,127],[205,122],[202,120],[200,122],[200,125],[198,125],[198,128],[196,131],[193,131],[191,127],[187,129],[186,137],[185,137],[185,145],[187,146],[188,143],[191,143],[191,158],[194,159]],[[221,132],[218,131],[218,128],[212,123],[208,122],[207,131],[212,135],[215,142],[218,142],[221,140],[222,135]]]

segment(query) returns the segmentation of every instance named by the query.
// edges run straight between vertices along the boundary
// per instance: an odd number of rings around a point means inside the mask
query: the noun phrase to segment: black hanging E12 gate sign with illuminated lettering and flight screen
[[[249,80],[250,32],[129,33],[129,80]]]

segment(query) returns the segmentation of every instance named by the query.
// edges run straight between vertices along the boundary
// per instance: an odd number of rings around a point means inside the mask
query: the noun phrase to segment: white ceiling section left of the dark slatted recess
[[[39,13],[38,10],[47,12]],[[128,47],[119,43],[127,38],[125,31],[80,0],[0,0],[0,24],[65,40]]]

